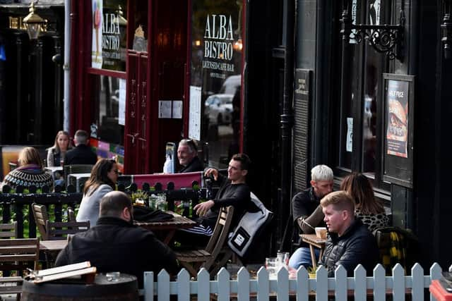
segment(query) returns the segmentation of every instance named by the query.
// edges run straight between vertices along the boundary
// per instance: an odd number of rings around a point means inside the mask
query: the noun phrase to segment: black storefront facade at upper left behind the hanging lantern
[[[30,1],[0,1],[0,144],[51,145],[63,128],[64,1],[40,1],[47,20],[30,41]]]

